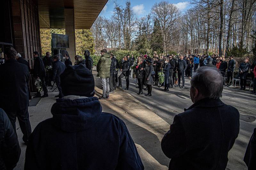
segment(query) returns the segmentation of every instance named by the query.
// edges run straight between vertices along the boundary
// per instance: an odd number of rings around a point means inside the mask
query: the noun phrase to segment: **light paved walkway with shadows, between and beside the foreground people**
[[[100,86],[100,78],[95,77],[95,96],[101,96]],[[36,106],[28,107],[32,130],[39,122],[52,117],[51,107],[57,94],[49,93],[49,97],[42,98]],[[170,126],[167,122],[120,88],[110,94],[110,99],[100,102],[104,112],[115,114],[125,122],[146,170],[168,169],[170,159],[161,150],[161,140]],[[16,126],[21,155],[15,170],[24,169],[26,151],[19,123],[16,122]]]

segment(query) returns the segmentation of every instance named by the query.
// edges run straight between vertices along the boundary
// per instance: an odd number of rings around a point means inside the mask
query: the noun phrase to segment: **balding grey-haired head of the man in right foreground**
[[[222,96],[223,77],[217,68],[199,67],[190,83],[190,96],[194,103],[199,98],[218,99]]]

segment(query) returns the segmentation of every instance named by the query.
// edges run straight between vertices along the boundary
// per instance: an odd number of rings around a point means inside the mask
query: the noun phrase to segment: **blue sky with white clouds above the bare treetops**
[[[137,14],[139,18],[147,15],[151,11],[151,7],[160,0],[130,0],[133,11]],[[109,18],[113,13],[114,0],[108,0],[108,3],[105,5],[103,10],[100,12],[100,16]],[[118,4],[125,7],[126,0],[117,0]],[[180,9],[180,11],[185,11],[189,7],[189,0],[168,0],[172,4]]]

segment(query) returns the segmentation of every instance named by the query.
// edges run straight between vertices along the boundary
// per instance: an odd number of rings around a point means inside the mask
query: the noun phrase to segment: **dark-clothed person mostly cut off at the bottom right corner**
[[[244,154],[244,162],[247,165],[248,170],[256,169],[256,128],[254,128],[252,137],[247,145]]]

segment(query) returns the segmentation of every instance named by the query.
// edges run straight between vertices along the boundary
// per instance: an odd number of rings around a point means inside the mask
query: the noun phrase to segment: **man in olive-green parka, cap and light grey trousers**
[[[100,51],[101,57],[97,64],[97,72],[99,73],[99,77],[101,79],[102,85],[102,96],[99,99],[109,99],[109,83],[108,79],[110,77],[110,65],[111,59],[110,55],[107,53],[106,49]]]

